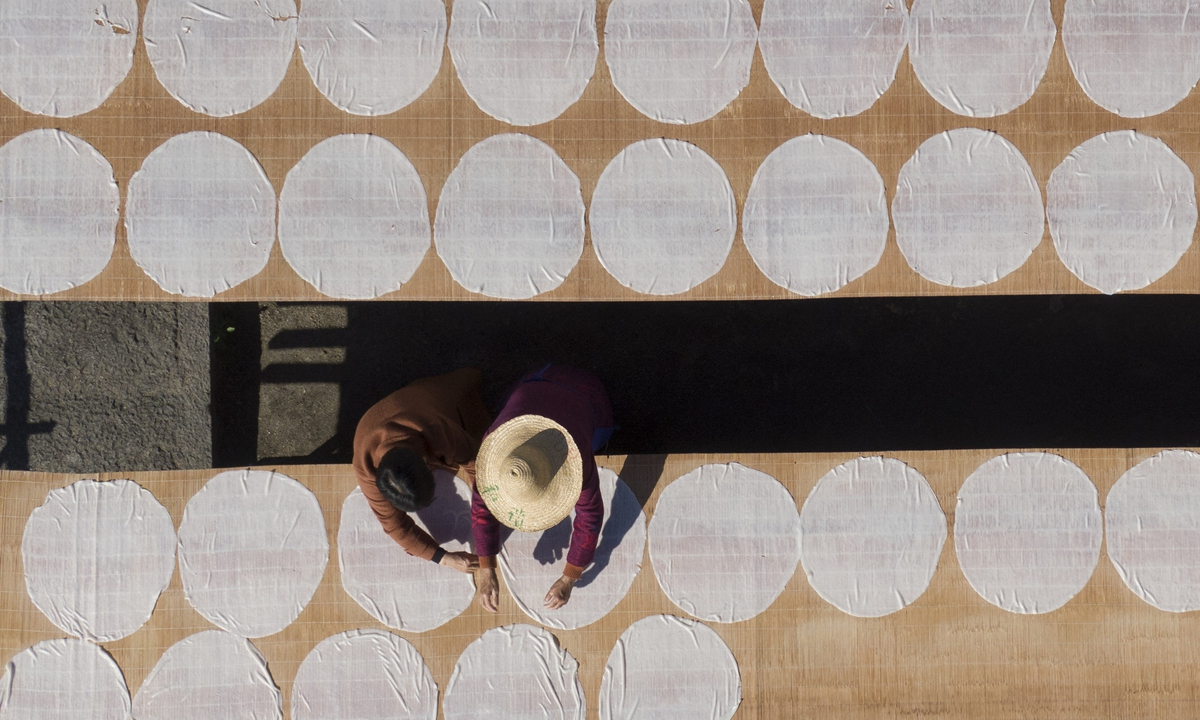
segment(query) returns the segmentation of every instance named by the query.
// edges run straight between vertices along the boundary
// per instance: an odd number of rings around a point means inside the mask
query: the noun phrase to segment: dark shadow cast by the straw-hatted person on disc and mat
[[[600,528],[600,542],[596,545],[595,557],[575,587],[586,588],[592,584],[608,566],[613,551],[637,522],[642,506],[654,492],[665,464],[666,455],[653,455],[642,456],[634,462],[626,461],[618,473],[622,481],[617,484],[608,518]],[[562,560],[571,544],[571,517],[568,516],[563,522],[544,532],[533,550],[534,559],[542,565]]]

